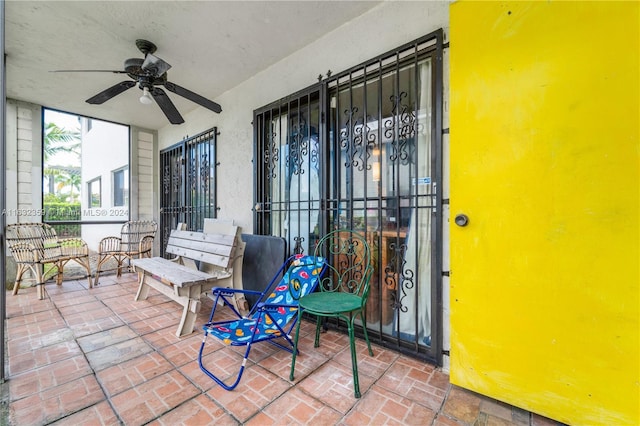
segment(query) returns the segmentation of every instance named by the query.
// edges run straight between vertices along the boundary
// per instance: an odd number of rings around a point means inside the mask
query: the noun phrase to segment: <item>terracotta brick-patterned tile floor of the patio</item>
[[[353,396],[346,336],[329,331],[313,348],[301,327],[296,380],[291,355],[256,345],[238,387],[223,390],[202,373],[199,328],[178,339],[182,307],[163,295],[134,302],[136,276],[101,277],[7,293],[7,381],[12,425],[552,425],[549,419],[452,386],[441,370],[358,341],[360,389]],[[207,340],[204,362],[231,374],[242,352]]]

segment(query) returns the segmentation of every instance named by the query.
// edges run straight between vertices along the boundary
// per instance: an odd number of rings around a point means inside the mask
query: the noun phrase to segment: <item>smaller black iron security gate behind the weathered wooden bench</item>
[[[200,133],[160,151],[161,255],[169,233],[178,223],[202,230],[204,219],[215,217],[217,129]]]

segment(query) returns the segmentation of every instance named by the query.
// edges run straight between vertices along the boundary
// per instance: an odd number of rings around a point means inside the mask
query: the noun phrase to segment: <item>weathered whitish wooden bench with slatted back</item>
[[[204,293],[213,287],[234,287],[234,280],[241,279],[244,244],[238,227],[232,225],[226,226],[225,233],[173,230],[166,252],[176,257],[132,260],[139,276],[135,300],[145,300],[153,288],[180,303],[183,310],[176,336],[182,337],[193,332]]]

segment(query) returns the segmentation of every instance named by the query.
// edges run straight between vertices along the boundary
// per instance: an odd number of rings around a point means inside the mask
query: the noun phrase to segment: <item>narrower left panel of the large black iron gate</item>
[[[308,253],[320,227],[319,85],[255,115],[257,184],[254,229]]]

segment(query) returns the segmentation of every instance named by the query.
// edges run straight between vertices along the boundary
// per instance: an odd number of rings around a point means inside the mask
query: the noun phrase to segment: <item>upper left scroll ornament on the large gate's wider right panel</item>
[[[377,135],[371,131],[367,124],[371,117],[367,120],[364,116],[356,117],[358,107],[345,109],[345,126],[340,131],[340,148],[345,151],[347,161],[345,167],[353,166],[358,171],[371,170],[369,158],[371,153],[377,146]]]

